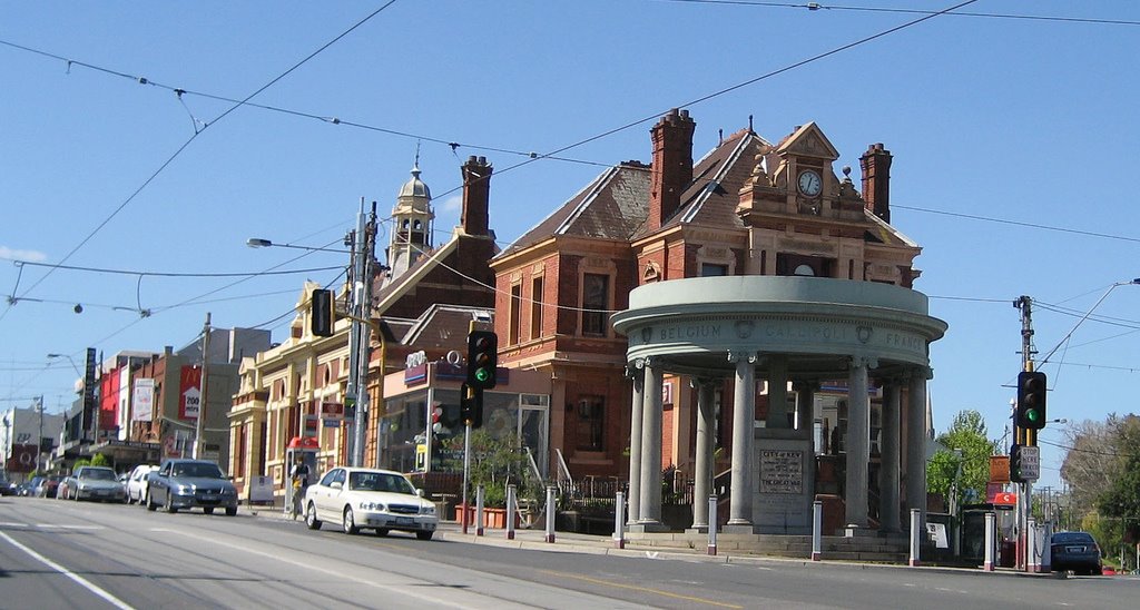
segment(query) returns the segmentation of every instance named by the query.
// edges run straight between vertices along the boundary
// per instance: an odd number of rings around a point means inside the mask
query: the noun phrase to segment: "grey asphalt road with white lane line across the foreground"
[[[345,536],[301,521],[0,498],[0,608],[1130,608],[1140,579]],[[488,540],[490,542],[490,540]],[[554,548],[552,547],[552,551]]]

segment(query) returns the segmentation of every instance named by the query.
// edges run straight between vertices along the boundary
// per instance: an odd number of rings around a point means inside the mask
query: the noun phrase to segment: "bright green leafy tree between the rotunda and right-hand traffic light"
[[[946,449],[935,453],[927,464],[927,490],[948,497],[956,477],[959,498],[963,502],[984,499],[990,481],[990,457],[997,452],[997,444],[987,438],[982,414],[972,409],[959,412],[950,429],[935,440]],[[954,449],[961,450],[961,458]],[[960,475],[959,465],[962,467]]]

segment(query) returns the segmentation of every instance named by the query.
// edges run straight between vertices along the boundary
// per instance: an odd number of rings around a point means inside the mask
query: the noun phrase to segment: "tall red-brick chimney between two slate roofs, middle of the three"
[[[650,135],[653,178],[649,195],[649,230],[657,230],[681,208],[681,193],[693,181],[693,129],[689,111],[673,108]]]

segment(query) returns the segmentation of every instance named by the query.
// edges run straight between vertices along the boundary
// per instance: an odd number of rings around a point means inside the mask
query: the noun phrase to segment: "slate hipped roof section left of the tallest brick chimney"
[[[560,235],[629,241],[645,225],[650,168],[627,161],[606,168],[499,257]]]

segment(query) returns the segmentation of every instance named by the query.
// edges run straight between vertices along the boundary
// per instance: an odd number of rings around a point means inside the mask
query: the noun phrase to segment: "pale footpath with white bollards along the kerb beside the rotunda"
[[[280,509],[268,509],[268,507],[256,507],[256,506],[243,506],[242,513],[252,514],[259,519],[276,519],[287,521],[290,517],[286,515]],[[241,513],[239,513],[241,514]],[[298,523],[302,522],[302,518],[298,518]],[[670,548],[662,550],[661,547],[651,547],[648,545],[638,546],[636,540],[627,539],[625,542],[625,547],[619,548],[617,542],[610,536],[596,536],[589,534],[577,534],[570,531],[555,531],[554,540],[548,542],[546,539],[546,531],[544,529],[516,529],[514,531],[514,538],[508,539],[506,537],[505,529],[490,529],[484,528],[483,535],[479,536],[475,531],[474,526],[467,527],[467,532],[463,532],[462,526],[457,521],[440,521],[439,528],[435,530],[434,539],[447,540],[454,543],[463,544],[481,544],[488,546],[498,546],[503,548],[522,548],[529,551],[543,551],[548,553],[579,553],[588,555],[611,555],[611,556],[626,556],[626,558],[643,558],[643,559],[656,559],[656,560],[683,560],[683,561],[703,561],[709,563],[732,563],[732,564],[764,564],[764,563],[792,563],[808,567],[826,567],[826,566],[858,566],[862,569],[885,569],[885,570],[923,570],[934,572],[947,572],[947,574],[975,574],[978,576],[1018,576],[1026,578],[1066,578],[1066,572],[1049,572],[1049,574],[1033,574],[1025,572],[1020,570],[1013,570],[1011,568],[996,568],[993,571],[985,571],[980,568],[962,568],[962,567],[950,567],[950,566],[904,566],[897,563],[869,563],[869,562],[856,562],[847,560],[828,560],[824,558],[822,561],[812,561],[809,558],[795,559],[795,558],[780,558],[760,555],[752,553],[742,552],[718,552],[716,555],[708,554],[707,548],[694,548],[690,551]]]

